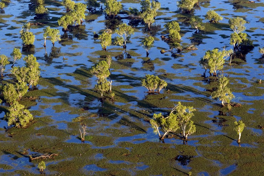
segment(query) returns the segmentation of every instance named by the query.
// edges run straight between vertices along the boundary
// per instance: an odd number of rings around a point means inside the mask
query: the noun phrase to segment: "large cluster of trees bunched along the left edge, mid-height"
[[[16,60],[22,58],[20,49],[14,48],[10,54]],[[8,112],[4,115],[4,119],[7,120],[8,126],[15,125],[15,127],[26,127],[27,124],[33,120],[33,116],[29,110],[24,109],[25,106],[18,103],[20,99],[27,93],[30,87],[34,88],[40,77],[39,63],[36,61],[36,57],[32,54],[23,58],[25,66],[12,67],[11,74],[15,78],[15,82],[9,82],[2,85],[2,95],[6,103],[10,104]],[[3,77],[3,71],[5,66],[9,64],[8,58],[5,55],[0,55],[0,69],[1,76]]]

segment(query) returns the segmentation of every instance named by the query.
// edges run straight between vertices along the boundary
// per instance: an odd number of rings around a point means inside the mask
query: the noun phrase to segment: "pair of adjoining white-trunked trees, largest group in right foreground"
[[[188,135],[193,134],[196,131],[194,122],[191,120],[191,117],[194,116],[194,109],[190,106],[183,106],[181,102],[172,109],[169,116],[164,117],[161,113],[154,114],[153,118],[150,120],[150,124],[154,130],[155,134],[159,134],[159,139],[164,140],[164,137],[169,132],[176,132],[178,129],[181,129],[182,138],[184,141],[188,140]],[[161,135],[159,129],[164,131],[164,134]]]

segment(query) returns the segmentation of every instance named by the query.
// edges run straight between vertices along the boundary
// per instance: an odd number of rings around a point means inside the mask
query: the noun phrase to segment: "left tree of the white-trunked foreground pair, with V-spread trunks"
[[[159,134],[159,139],[164,140],[164,137],[169,132],[175,132],[179,129],[177,116],[173,114],[172,112],[169,114],[168,117],[162,116],[161,113],[154,114],[153,118],[150,120],[150,124],[153,128],[153,131],[155,134]],[[161,136],[159,132],[159,128],[161,128],[164,131],[164,134]]]

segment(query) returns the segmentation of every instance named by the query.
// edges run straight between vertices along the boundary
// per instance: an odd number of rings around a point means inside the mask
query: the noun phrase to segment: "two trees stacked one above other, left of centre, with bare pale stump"
[[[108,81],[107,78],[110,75],[110,64],[111,64],[111,56],[108,55],[106,57],[106,61],[105,60],[101,60],[99,61],[97,64],[95,64],[94,66],[92,66],[91,68],[91,73],[93,75],[95,75],[95,77],[97,78],[97,84],[95,85],[95,89],[97,90],[97,92],[99,92],[101,94],[101,99],[103,98],[103,93],[106,92],[112,92],[112,80]],[[111,98],[114,98],[114,95],[111,94],[110,95]]]

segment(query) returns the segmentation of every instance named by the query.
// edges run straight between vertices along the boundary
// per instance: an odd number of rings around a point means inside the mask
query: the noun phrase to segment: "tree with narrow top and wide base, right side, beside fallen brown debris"
[[[220,77],[218,88],[212,93],[212,98],[219,98],[222,102],[222,106],[225,106],[225,103],[230,103],[230,101],[235,97],[230,89],[227,87],[229,80],[227,77]]]

